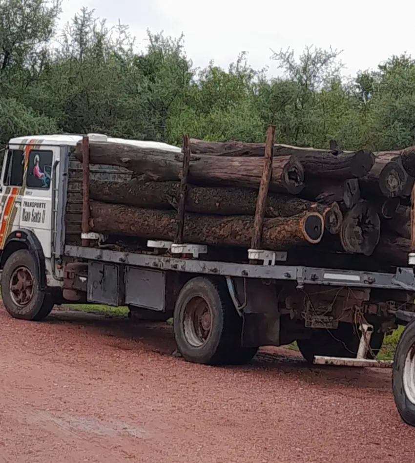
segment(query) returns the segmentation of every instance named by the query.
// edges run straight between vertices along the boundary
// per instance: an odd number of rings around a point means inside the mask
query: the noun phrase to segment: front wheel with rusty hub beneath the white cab
[[[1,295],[7,312],[14,318],[41,321],[52,308],[51,295],[39,288],[35,260],[21,249],[6,260],[1,275]]]

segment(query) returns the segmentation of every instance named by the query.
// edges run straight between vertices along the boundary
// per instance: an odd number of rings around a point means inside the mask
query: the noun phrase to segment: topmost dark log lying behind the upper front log
[[[242,142],[204,142],[190,139],[193,153],[216,156],[264,156],[265,143]],[[368,150],[356,152],[339,152],[327,149],[291,147],[288,145],[274,145],[274,156],[297,155],[304,167],[306,176],[335,178],[361,178],[369,173],[374,164],[374,156]]]

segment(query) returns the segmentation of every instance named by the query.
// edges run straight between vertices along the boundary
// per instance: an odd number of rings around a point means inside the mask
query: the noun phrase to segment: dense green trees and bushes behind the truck
[[[178,144],[192,137],[276,140],[373,150],[415,145],[415,60],[394,56],[341,78],[336,50],[274,53],[281,77],[245,54],[223,70],[195,69],[183,38],[148,33],[135,52],[128,29],[83,9],[57,30],[61,0],[0,0],[0,144],[17,135],[101,132]],[[270,44],[272,45],[272,44]]]

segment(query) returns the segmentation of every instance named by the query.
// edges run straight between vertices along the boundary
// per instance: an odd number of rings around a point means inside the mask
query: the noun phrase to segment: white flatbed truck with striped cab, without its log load
[[[0,184],[1,295],[10,316],[40,321],[55,304],[87,302],[127,306],[135,319],[173,317],[178,351],[204,364],[243,364],[260,346],[296,341],[314,364],[386,367],[392,362],[376,359],[383,338],[405,325],[393,389],[401,417],[415,425],[415,254],[388,273],[290,265],[290,251],[91,232],[89,182],[131,177],[89,164],[96,140],[182,151],[100,134],[11,139]]]

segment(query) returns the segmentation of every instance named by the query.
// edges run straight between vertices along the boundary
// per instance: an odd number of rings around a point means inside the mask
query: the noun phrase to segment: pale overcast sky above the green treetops
[[[110,24],[130,26],[140,49],[146,29],[178,37],[183,32],[187,55],[195,66],[213,59],[228,67],[241,51],[269,75],[279,71],[271,48],[299,54],[305,45],[343,50],[344,73],[375,68],[404,51],[415,56],[415,2],[410,0],[65,0],[61,21],[82,6]]]

